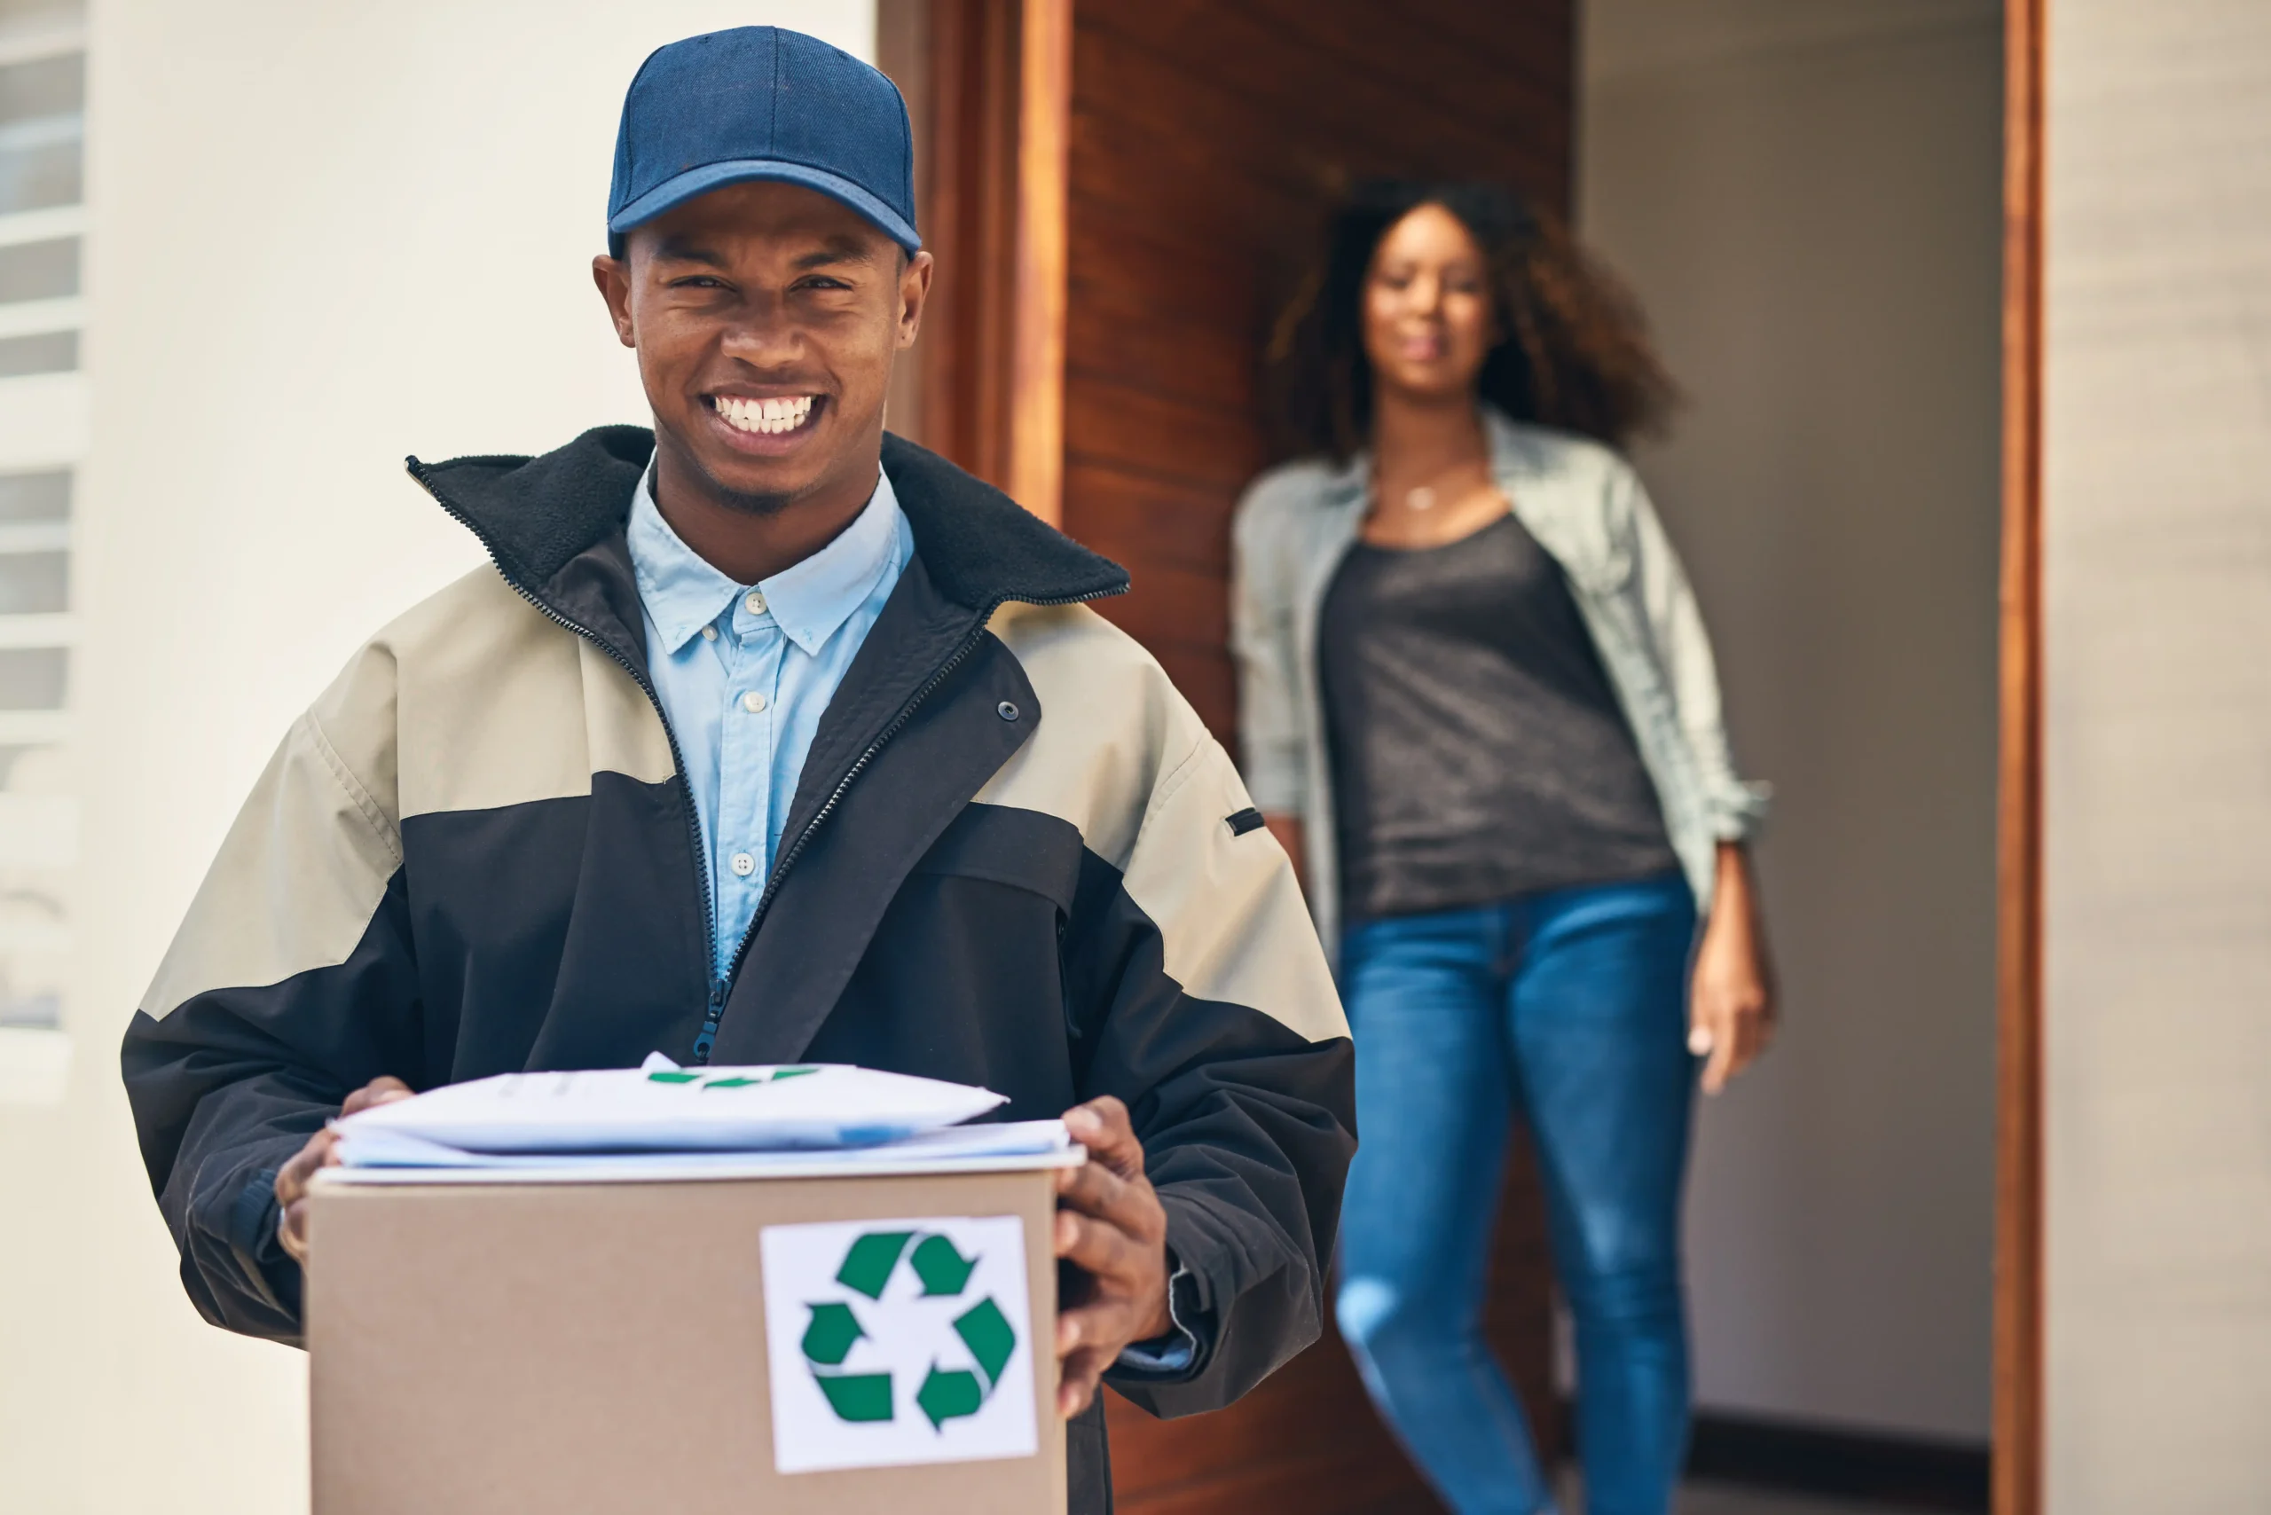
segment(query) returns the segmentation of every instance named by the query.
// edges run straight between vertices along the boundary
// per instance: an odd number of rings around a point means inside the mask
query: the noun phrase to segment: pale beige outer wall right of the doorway
[[[2271,9],[2058,0],[2044,1483],[2271,1508]]]

